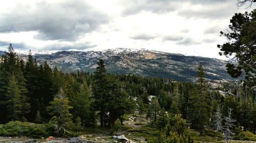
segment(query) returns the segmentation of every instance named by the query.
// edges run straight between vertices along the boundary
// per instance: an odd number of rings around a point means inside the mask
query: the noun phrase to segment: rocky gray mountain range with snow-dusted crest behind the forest
[[[0,54],[3,52],[0,51]],[[26,62],[27,55],[19,54],[19,56]],[[55,53],[39,51],[33,56],[38,63],[47,61],[51,67],[57,66],[63,72],[77,70],[93,72],[98,60],[102,59],[110,73],[165,77],[183,81],[194,81],[197,67],[202,62],[207,79],[232,79],[226,72],[226,62],[223,60],[147,49],[116,48],[104,51],[58,51]]]

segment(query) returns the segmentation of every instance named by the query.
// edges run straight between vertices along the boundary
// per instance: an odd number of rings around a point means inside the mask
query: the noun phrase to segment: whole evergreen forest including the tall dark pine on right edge
[[[217,45],[219,54],[240,81],[209,81],[202,63],[195,82],[110,74],[102,59],[93,73],[67,73],[38,63],[31,51],[19,58],[10,44],[0,60],[0,137],[121,132],[150,143],[256,141],[255,19],[255,9],[236,13],[220,32],[227,42]]]

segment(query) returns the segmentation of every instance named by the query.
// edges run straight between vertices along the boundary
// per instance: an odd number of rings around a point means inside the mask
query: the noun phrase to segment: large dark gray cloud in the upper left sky
[[[35,8],[17,5],[12,12],[0,18],[0,32],[37,31],[35,37],[42,40],[75,41],[100,24],[108,22],[108,16],[93,9],[84,1],[61,3],[37,2]]]

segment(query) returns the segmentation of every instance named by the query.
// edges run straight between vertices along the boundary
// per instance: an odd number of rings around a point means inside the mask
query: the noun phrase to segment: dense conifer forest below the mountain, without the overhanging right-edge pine
[[[103,60],[97,65],[94,73],[63,73],[47,61],[37,63],[31,52],[25,63],[10,44],[0,64],[0,136],[69,137],[86,128],[114,130],[137,112],[156,129],[157,137],[148,142],[194,142],[190,129],[200,136],[210,130],[226,140],[255,140],[255,91],[241,82],[223,82],[222,89],[228,89],[223,96],[205,79],[202,64],[196,82],[113,75]]]

